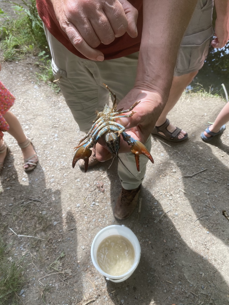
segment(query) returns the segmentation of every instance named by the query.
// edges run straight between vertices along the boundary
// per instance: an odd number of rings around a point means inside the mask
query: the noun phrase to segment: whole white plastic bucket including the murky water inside
[[[140,244],[136,235],[124,225],[103,228],[91,246],[96,269],[108,280],[122,282],[136,269],[140,260]]]

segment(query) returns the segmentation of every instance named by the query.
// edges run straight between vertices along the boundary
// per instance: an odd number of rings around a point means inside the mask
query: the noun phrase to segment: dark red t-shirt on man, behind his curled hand
[[[72,45],[68,39],[67,34],[60,28],[60,24],[56,19],[53,5],[50,0],[36,0],[38,14],[41,17],[43,23],[49,30],[49,32],[60,41],[69,51],[75,55],[86,58]],[[131,38],[127,33],[121,37],[115,38],[115,40],[109,45],[100,44],[96,49],[100,50],[104,54],[104,59],[114,59],[139,51],[141,33],[142,33],[142,1],[129,0],[129,2],[138,10],[137,30],[138,36]]]

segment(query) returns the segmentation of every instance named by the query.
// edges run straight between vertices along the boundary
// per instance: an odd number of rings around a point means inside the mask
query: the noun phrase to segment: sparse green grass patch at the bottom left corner
[[[19,304],[20,289],[24,284],[23,269],[15,260],[10,259],[10,253],[0,238],[0,304]]]

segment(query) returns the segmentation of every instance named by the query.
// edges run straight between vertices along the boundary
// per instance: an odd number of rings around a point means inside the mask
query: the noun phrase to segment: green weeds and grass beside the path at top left
[[[45,32],[40,19],[35,0],[21,0],[22,5],[15,2],[12,9],[16,18],[9,17],[0,9],[0,48],[4,60],[20,60],[26,55],[36,55],[37,64],[41,68],[38,78],[43,81],[53,80],[51,56]]]

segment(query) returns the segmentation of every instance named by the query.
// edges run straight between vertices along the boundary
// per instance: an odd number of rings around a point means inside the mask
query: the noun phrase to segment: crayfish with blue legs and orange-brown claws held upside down
[[[104,86],[110,91],[114,98],[113,106],[111,108],[106,104],[103,111],[96,113],[97,117],[93,121],[91,129],[88,131],[87,135],[80,140],[79,145],[74,147],[75,155],[72,160],[72,167],[75,167],[75,164],[79,159],[83,159],[85,168],[84,171],[87,171],[89,157],[92,154],[90,148],[92,148],[101,137],[104,138],[107,149],[111,152],[113,159],[115,156],[119,159],[118,151],[120,149],[120,135],[122,135],[124,141],[131,146],[130,150],[135,155],[136,167],[140,172],[139,155],[143,154],[147,156],[152,163],[154,163],[154,160],[145,145],[128,135],[125,132],[125,127],[115,122],[115,119],[120,117],[132,117],[133,114],[136,113],[136,111],[132,110],[140,103],[140,101],[135,102],[129,109],[123,110],[122,108],[117,110],[116,95],[110,90],[110,88],[108,88],[107,85],[104,84]],[[128,113],[130,111],[131,113],[122,115],[123,113]]]

